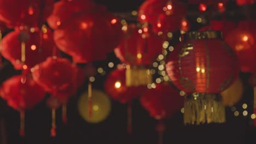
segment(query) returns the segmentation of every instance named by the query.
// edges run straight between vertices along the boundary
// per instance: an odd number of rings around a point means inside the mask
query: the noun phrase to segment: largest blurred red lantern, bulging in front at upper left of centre
[[[109,52],[108,28],[106,19],[99,14],[79,13],[56,29],[54,39],[60,50],[71,55],[76,63],[101,61]]]

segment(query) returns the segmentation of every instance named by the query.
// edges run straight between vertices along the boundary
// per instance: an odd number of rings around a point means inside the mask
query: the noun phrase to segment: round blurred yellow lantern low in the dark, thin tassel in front
[[[111,110],[111,103],[107,95],[102,91],[92,89],[92,115],[89,116],[88,92],[83,93],[78,101],[80,116],[88,123],[100,123],[104,121]]]

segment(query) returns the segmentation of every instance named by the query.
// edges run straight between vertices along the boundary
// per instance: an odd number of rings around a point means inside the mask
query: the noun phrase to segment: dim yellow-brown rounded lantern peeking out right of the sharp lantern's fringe
[[[241,100],[243,95],[243,83],[240,78],[236,79],[236,81],[225,91],[221,93],[222,101],[225,106],[232,106],[238,103]]]

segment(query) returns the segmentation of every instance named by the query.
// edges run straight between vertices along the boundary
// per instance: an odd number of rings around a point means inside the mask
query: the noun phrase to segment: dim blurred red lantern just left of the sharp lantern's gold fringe
[[[155,119],[170,118],[182,108],[184,98],[169,83],[156,84],[141,97],[142,106]]]

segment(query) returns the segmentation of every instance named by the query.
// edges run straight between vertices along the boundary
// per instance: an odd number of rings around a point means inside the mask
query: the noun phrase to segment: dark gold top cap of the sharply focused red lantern
[[[199,39],[223,39],[221,31],[191,31],[185,33],[184,40],[199,40]]]

